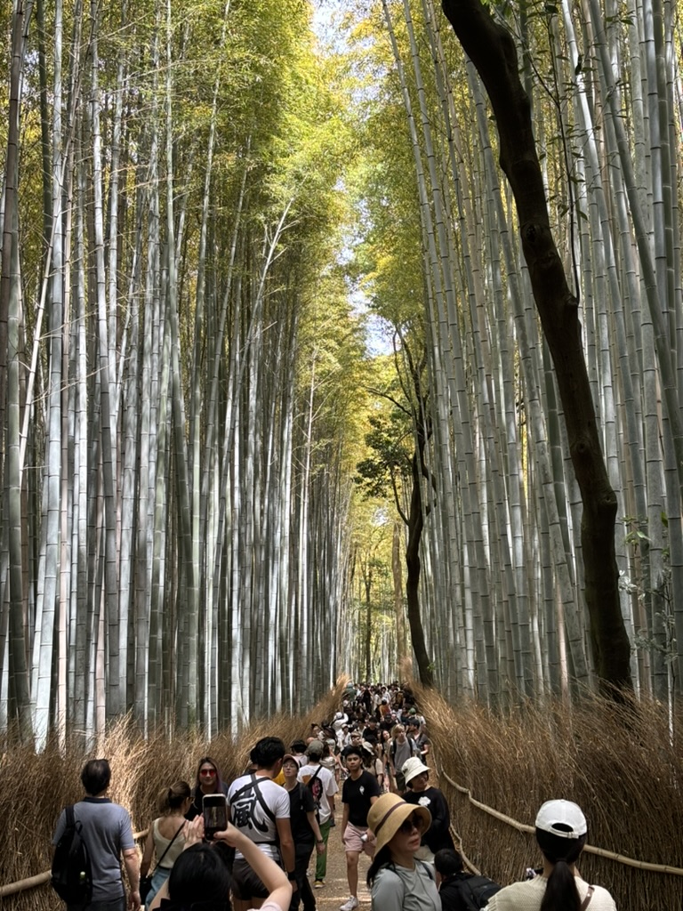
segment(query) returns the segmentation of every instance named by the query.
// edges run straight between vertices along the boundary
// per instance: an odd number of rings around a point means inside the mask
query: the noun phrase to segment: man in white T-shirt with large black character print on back
[[[290,795],[272,780],[280,773],[284,755],[280,738],[263,737],[250,752],[256,771],[230,784],[228,809],[232,824],[263,854],[283,865],[292,888],[296,888]],[[268,889],[239,851],[232,867],[232,896],[234,911],[249,911],[268,897]]]

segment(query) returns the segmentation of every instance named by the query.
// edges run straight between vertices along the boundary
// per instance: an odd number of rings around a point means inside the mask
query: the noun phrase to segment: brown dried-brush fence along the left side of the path
[[[134,831],[147,828],[157,815],[159,791],[177,779],[194,785],[197,763],[209,755],[219,764],[227,782],[240,775],[249,762],[249,752],[260,737],[281,737],[289,747],[305,737],[311,722],[331,720],[342,701],[346,678],[337,682],[302,718],[278,715],[255,721],[233,740],[222,733],[207,741],[197,733],[163,732],[145,740],[128,719],[112,725],[95,752],[84,755],[76,739],[65,755],[56,741],[36,754],[23,746],[8,747],[0,756],[0,815],[7,821],[0,846],[0,885],[44,873],[50,867],[51,840],[58,815],[83,794],[80,772],[92,756],[106,756],[111,763],[110,796],[130,811]],[[0,898],[8,911],[63,911],[49,885]]]

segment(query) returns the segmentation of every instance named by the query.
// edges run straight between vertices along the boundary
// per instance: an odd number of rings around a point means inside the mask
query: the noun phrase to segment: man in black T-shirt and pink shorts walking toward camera
[[[363,771],[361,746],[347,746],[342,756],[349,772],[342,788],[342,841],[351,896],[340,906],[340,911],[354,911],[358,907],[358,858],[362,851],[369,857],[374,855],[374,838],[368,832],[368,813],[380,796],[380,786],[376,778]]]

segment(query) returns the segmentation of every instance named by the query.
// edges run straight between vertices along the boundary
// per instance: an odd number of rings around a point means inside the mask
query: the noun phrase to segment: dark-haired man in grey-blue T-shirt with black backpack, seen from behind
[[[86,789],[83,800],[74,804],[76,821],[90,855],[93,894],[90,904],[78,911],[138,911],[140,906],[140,865],[133,840],[130,815],[107,797],[111,769],[106,759],[91,759],[81,772]],[[52,844],[57,844],[66,829],[66,810],[57,820]],[[121,878],[121,856],[126,866],[130,894]],[[71,911],[70,906],[66,906]]]

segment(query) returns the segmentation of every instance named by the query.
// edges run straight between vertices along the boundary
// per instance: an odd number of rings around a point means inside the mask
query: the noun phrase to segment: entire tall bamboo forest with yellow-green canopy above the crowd
[[[675,11],[443,6],[0,13],[2,727],[680,690]]]

